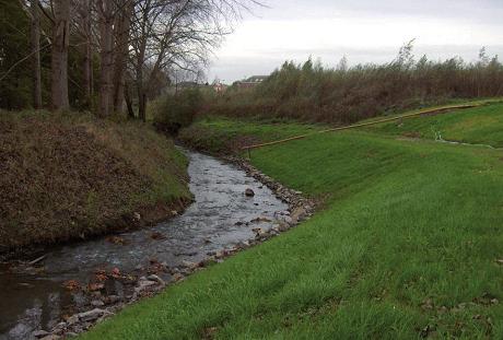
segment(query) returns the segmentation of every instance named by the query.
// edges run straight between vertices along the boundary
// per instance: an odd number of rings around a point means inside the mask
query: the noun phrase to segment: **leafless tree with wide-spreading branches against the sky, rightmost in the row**
[[[230,23],[247,4],[238,0],[139,0],[131,30],[131,71],[139,117],[145,120],[147,93],[161,70],[199,70],[208,51],[230,33]]]

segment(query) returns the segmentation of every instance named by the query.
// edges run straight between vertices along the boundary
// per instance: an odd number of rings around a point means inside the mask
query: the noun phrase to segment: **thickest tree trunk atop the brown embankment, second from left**
[[[70,0],[55,0],[51,50],[52,109],[68,109],[68,46],[70,44]]]

